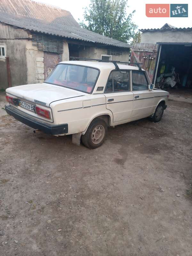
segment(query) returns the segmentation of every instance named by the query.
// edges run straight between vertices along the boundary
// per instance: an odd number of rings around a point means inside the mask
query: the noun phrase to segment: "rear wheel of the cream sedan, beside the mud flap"
[[[82,142],[87,148],[100,147],[107,136],[107,124],[100,118],[95,118],[84,135],[81,136]]]

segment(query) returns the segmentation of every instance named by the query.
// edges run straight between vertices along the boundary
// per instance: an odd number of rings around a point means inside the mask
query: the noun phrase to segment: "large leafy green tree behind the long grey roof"
[[[128,43],[135,35],[137,25],[132,22],[135,10],[128,15],[128,0],[91,0],[84,10],[82,28]]]

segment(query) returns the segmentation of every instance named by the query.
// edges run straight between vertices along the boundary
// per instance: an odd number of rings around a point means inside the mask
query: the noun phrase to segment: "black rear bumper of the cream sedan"
[[[51,135],[58,135],[63,133],[68,133],[68,124],[47,124],[41,120],[36,120],[32,116],[21,112],[11,106],[5,106],[5,110],[7,114],[13,116],[15,119],[20,121],[23,124],[26,124],[34,129],[41,130],[44,133],[51,134]]]

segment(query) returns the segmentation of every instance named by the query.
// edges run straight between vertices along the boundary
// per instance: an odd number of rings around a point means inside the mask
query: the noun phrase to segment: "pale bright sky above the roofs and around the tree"
[[[89,6],[90,0],[36,0],[36,2],[50,4],[71,12],[76,21],[83,20],[84,7]],[[148,18],[145,15],[145,4],[188,4],[188,18]],[[127,14],[136,10],[133,21],[138,28],[161,28],[165,23],[178,28],[192,27],[192,2],[191,0],[164,1],[164,0],[128,0]]]

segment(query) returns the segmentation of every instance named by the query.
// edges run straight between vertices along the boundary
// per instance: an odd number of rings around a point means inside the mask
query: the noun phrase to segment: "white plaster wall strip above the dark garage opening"
[[[141,34],[141,43],[192,43],[192,31],[156,31]]]

